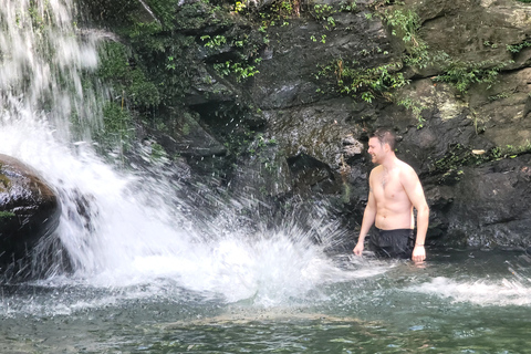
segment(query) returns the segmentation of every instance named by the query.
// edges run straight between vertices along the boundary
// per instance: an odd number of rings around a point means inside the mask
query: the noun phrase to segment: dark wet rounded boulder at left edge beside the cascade
[[[31,254],[59,225],[61,205],[53,189],[30,167],[0,154],[0,267]]]

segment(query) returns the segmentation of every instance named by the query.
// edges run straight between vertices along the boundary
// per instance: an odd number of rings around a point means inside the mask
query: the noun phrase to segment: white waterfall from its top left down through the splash
[[[106,93],[83,80],[97,67],[98,37],[76,29],[72,0],[1,0],[0,25],[0,153],[39,170],[62,204],[51,253],[65,249],[73,273],[52,267],[50,279],[95,287],[164,279],[228,301],[274,302],[346,277],[325,256],[342,235],[324,214],[310,230],[291,221],[250,229],[233,215],[258,204],[241,198],[199,228],[192,208],[176,200],[175,180],[117,171],[97,156],[90,133],[102,124],[97,97]]]

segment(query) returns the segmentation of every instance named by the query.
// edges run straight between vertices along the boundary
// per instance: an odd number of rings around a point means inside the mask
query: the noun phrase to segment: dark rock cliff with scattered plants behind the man
[[[367,134],[393,127],[426,190],[428,242],[529,247],[531,6],[285,0],[296,7],[283,13],[280,2],[247,14],[231,2],[226,18],[179,3],[171,35],[191,38],[179,67],[192,79],[171,129],[152,133],[163,147],[228,189],[327,200],[354,242]],[[345,90],[347,75],[358,82]]]

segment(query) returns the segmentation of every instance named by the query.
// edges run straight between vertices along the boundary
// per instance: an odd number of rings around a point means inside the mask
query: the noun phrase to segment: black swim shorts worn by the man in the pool
[[[377,257],[409,259],[415,248],[413,229],[381,230],[371,236],[369,249]]]

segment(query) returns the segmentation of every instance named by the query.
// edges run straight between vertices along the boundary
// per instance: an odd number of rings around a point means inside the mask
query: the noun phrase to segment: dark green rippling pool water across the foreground
[[[4,285],[0,353],[531,353],[529,257],[429,256],[424,267],[340,257],[350,279],[280,302],[259,291],[229,303],[169,279]]]

